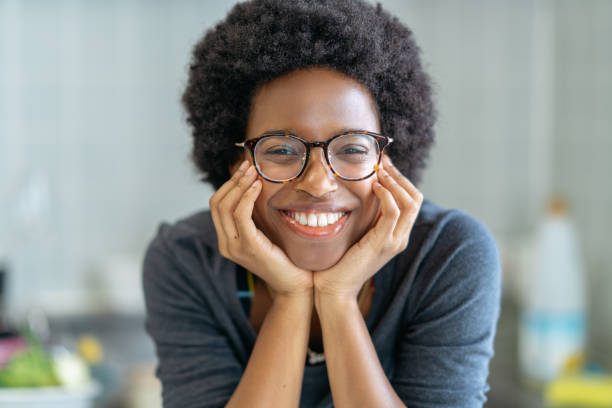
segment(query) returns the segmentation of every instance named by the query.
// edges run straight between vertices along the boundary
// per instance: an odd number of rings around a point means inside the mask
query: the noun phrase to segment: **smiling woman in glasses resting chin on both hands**
[[[164,406],[482,406],[499,256],[415,187],[434,110],[411,32],[360,1],[240,3],[189,75],[217,190],[144,262]]]

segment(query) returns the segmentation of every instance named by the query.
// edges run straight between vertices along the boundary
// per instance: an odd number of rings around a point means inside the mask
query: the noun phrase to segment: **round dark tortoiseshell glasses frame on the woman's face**
[[[364,176],[364,177],[359,177],[359,178],[349,178],[349,177],[344,177],[340,174],[338,174],[334,168],[331,165],[331,162],[329,161],[329,144],[334,140],[337,139],[341,136],[349,136],[349,135],[368,135],[373,137],[374,139],[376,139],[376,143],[378,143],[378,160],[376,161],[376,165],[374,166],[374,169],[372,170],[371,173],[369,173],[368,175]],[[255,145],[257,144],[257,142],[259,142],[262,139],[265,139],[267,137],[270,136],[282,136],[282,137],[288,137],[291,139],[295,139],[295,140],[299,140],[300,142],[302,142],[305,146],[306,146],[306,159],[304,160],[304,164],[302,165],[302,170],[300,170],[300,172],[295,176],[292,177],[290,179],[287,180],[274,180],[274,179],[270,179],[266,176],[264,176],[261,172],[261,170],[259,169],[259,165],[257,164],[257,159],[255,159]],[[315,147],[320,147],[323,149],[323,155],[325,156],[325,161],[327,162],[327,167],[331,170],[332,174],[342,180],[347,180],[347,181],[359,181],[359,180],[365,180],[368,177],[371,177],[374,173],[376,173],[376,171],[378,170],[378,168],[380,167],[380,162],[382,160],[382,156],[383,156],[383,150],[385,149],[385,147],[389,146],[391,143],[393,142],[393,138],[390,138],[388,136],[384,136],[384,135],[380,135],[378,133],[374,133],[374,132],[368,132],[368,131],[350,131],[350,132],[344,132],[341,133],[339,135],[335,135],[332,138],[326,140],[325,142],[309,142],[308,140],[304,140],[300,137],[297,137],[295,135],[292,135],[291,133],[265,133],[259,137],[256,137],[254,139],[248,139],[245,140],[244,142],[241,143],[234,143],[235,146],[237,147],[242,147],[245,149],[248,149],[251,152],[251,157],[253,158],[253,163],[255,163],[255,170],[257,170],[257,173],[263,177],[265,180],[270,181],[272,183],[290,183],[293,180],[299,178],[303,173],[304,170],[306,170],[306,167],[308,167],[308,162],[310,160],[310,150],[312,148]]]

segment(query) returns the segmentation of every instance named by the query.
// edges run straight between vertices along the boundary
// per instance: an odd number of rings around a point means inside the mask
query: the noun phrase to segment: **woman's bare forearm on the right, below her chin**
[[[315,291],[334,406],[403,407],[378,360],[356,300]]]

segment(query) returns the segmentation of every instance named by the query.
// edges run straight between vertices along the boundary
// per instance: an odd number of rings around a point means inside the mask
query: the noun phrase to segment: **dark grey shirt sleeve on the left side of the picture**
[[[187,268],[161,233],[149,245],[143,263],[146,330],[155,343],[163,406],[222,407],[243,368]]]

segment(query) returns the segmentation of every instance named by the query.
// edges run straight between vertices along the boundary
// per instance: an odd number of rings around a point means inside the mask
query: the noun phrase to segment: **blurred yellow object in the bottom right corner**
[[[612,376],[561,377],[546,387],[544,397],[554,407],[612,408]]]

